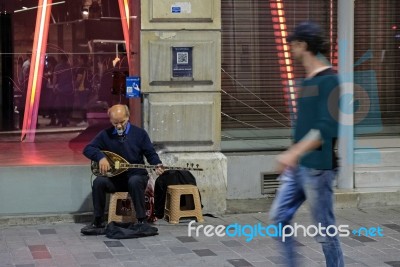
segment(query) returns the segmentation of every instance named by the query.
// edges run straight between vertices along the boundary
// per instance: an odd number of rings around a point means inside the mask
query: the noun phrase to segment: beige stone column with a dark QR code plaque
[[[211,213],[226,209],[227,162],[220,153],[220,12],[219,0],[141,4],[144,128],[164,147],[165,165],[204,169],[193,174],[204,212]]]

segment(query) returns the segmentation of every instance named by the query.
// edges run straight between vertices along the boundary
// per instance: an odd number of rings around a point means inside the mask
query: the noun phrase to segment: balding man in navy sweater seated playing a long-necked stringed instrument
[[[138,223],[146,221],[145,189],[148,182],[146,169],[132,168],[114,177],[107,173],[112,168],[110,160],[103,151],[110,151],[134,164],[147,162],[156,165],[155,172],[164,172],[162,162],[156,153],[147,132],[129,122],[129,109],[126,105],[114,105],[108,110],[108,116],[113,127],[102,130],[84,148],[83,154],[94,162],[102,175],[96,177],[92,186],[94,220],[85,226],[83,231],[104,228],[103,216],[106,205],[106,193],[129,192],[134,203]]]

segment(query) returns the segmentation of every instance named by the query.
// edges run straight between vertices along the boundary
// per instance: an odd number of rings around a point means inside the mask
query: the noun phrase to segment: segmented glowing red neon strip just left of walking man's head
[[[290,92],[288,96],[290,99],[289,103],[291,103],[292,111],[296,113],[297,108],[295,101],[296,95],[294,90],[294,74],[292,60],[290,57],[290,48],[288,43],[286,42],[287,28],[283,0],[276,0],[274,2],[270,1],[270,9],[274,28],[274,36],[276,37],[275,44],[276,49],[278,50],[277,55],[279,58],[281,77],[282,79],[287,79],[286,81],[282,80],[282,85],[284,86],[283,92],[286,94],[287,91]],[[283,53],[280,51],[283,51]],[[287,90],[287,87],[289,87],[289,90]],[[287,98],[286,95],[285,98]]]

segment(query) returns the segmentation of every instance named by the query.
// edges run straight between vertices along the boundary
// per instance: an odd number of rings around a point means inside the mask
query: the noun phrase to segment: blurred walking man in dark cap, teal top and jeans
[[[281,186],[270,218],[275,224],[290,224],[307,199],[313,224],[326,229],[336,223],[332,183],[337,173],[334,149],[338,136],[339,80],[331,66],[322,60],[326,44],[317,24],[299,24],[287,41],[293,58],[303,65],[306,77],[297,92],[294,144],[277,157]],[[326,266],[342,267],[343,253],[337,232],[334,233],[336,228],[328,229],[315,238],[322,245]],[[293,238],[286,238],[282,245],[288,266],[298,266]]]

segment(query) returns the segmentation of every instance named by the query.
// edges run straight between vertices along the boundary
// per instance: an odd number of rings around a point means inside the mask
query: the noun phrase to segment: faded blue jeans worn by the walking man
[[[332,190],[335,176],[335,170],[316,170],[303,166],[285,170],[279,177],[281,186],[270,210],[273,223],[276,225],[281,223],[282,227],[290,224],[297,209],[307,199],[315,226],[335,225]],[[315,239],[322,245],[327,267],[344,266],[343,253],[337,235],[317,235]],[[286,238],[285,242],[281,241],[281,243],[288,266],[298,266],[295,262],[293,238]]]

